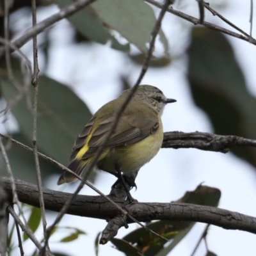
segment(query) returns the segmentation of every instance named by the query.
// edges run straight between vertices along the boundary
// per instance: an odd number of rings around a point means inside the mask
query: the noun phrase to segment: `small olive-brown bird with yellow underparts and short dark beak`
[[[79,134],[70,157],[68,168],[81,175],[86,170],[100,145],[115,122],[116,112],[124,104],[131,89],[100,108]],[[109,173],[127,173],[139,170],[148,163],[161,148],[163,125],[161,115],[167,103],[163,92],[150,85],[141,85],[122,113],[115,132],[97,161],[97,168]],[[63,171],[58,185],[74,182],[77,178]]]

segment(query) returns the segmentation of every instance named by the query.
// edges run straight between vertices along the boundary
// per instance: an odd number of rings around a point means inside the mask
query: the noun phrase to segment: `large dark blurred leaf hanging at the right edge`
[[[256,99],[250,92],[227,38],[195,28],[188,50],[188,79],[195,103],[211,118],[217,134],[256,138]],[[256,167],[256,150],[231,148]]]

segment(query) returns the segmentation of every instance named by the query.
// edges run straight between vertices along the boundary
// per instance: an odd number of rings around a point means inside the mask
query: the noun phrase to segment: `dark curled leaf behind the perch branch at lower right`
[[[208,186],[198,186],[195,191],[188,191],[176,203],[188,203],[198,205],[208,205],[216,207],[220,201],[220,189]],[[125,255],[145,255],[164,256],[168,255],[172,249],[188,234],[195,225],[191,221],[156,221],[148,223],[147,227],[157,234],[172,239],[168,244],[164,239],[152,235],[145,228],[138,228],[122,239],[114,238],[111,242],[118,250]],[[167,246],[166,246],[167,243]]]

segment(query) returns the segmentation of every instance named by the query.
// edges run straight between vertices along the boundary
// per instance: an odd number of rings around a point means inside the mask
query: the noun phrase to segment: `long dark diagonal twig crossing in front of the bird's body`
[[[61,209],[60,213],[58,214],[56,220],[54,221],[54,223],[51,225],[51,227],[48,228],[48,234],[51,234],[52,229],[55,227],[55,225],[57,225],[57,223],[61,220],[61,218],[63,217],[63,215],[67,212],[67,209],[70,207],[70,204],[72,204],[72,201],[74,200],[74,198],[77,196],[77,194],[79,193],[79,191],[81,191],[81,189],[83,188],[85,181],[88,179],[88,175],[90,174],[90,172],[93,170],[93,166],[95,166],[95,164],[97,163],[100,154],[102,154],[104,148],[106,147],[109,138],[111,137],[111,134],[113,134],[113,132],[116,129],[116,125],[118,124],[118,121],[120,119],[120,116],[122,115],[122,113],[124,112],[125,108],[127,107],[127,105],[129,104],[132,96],[134,95],[134,93],[136,92],[141,80],[143,79],[143,76],[145,75],[145,73],[147,72],[147,68],[150,62],[150,58],[152,56],[152,52],[154,51],[154,44],[156,41],[156,36],[159,32],[159,29],[161,28],[161,22],[163,20],[164,17],[164,13],[166,12],[168,6],[170,4],[169,0],[166,0],[166,2],[164,3],[164,6],[159,14],[159,17],[156,21],[156,25],[154,26],[154,29],[152,30],[152,38],[150,40],[150,46],[149,49],[147,51],[147,55],[145,56],[145,61],[143,63],[143,67],[141,68],[141,73],[140,76],[138,77],[138,80],[136,81],[136,84],[134,85],[134,87],[132,88],[131,92],[129,93],[129,95],[127,96],[127,99],[125,99],[124,104],[122,104],[122,106],[120,106],[120,109],[118,109],[118,111],[116,112],[116,118],[115,118],[115,122],[113,122],[113,125],[111,126],[111,128],[108,131],[108,134],[106,135],[106,139],[104,140],[104,142],[102,143],[102,145],[100,146],[99,150],[97,150],[97,153],[95,154],[95,156],[92,159],[92,163],[90,164],[89,168],[88,168],[88,172],[85,173],[83,179],[81,180],[79,186],[77,187],[76,191],[72,194],[72,196],[70,196],[70,198],[68,198],[67,202],[65,205],[63,205],[63,208]],[[127,214],[127,212],[122,211],[123,214]],[[136,221],[139,225],[141,225],[141,223],[139,223],[138,221]],[[143,225],[144,226],[144,225]],[[145,226],[144,226],[145,227]],[[151,231],[152,232],[152,231]],[[157,234],[157,236],[159,236]],[[164,237],[162,237],[164,238]]]

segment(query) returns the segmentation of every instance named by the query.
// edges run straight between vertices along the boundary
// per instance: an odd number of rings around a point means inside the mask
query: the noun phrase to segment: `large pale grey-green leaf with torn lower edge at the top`
[[[71,4],[72,0],[54,0],[54,3],[63,8]],[[86,40],[89,39],[99,44],[106,44],[110,41],[113,49],[125,52],[129,51],[131,43],[142,52],[146,52],[146,44],[150,42],[156,17],[152,8],[142,0],[98,0],[68,17],[68,20],[80,35],[85,36]],[[111,30],[124,36],[128,43],[120,44],[112,35]],[[81,40],[80,36],[79,40]],[[168,41],[163,31],[160,31],[160,40],[167,55]]]

